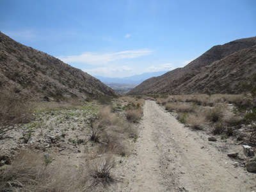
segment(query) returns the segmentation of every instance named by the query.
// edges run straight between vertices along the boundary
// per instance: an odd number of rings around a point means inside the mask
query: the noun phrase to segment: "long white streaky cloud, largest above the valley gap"
[[[106,65],[112,61],[139,58],[151,54],[150,49],[138,49],[131,51],[121,51],[106,54],[84,52],[79,56],[59,56],[58,58],[65,63],[86,63],[88,65]]]

